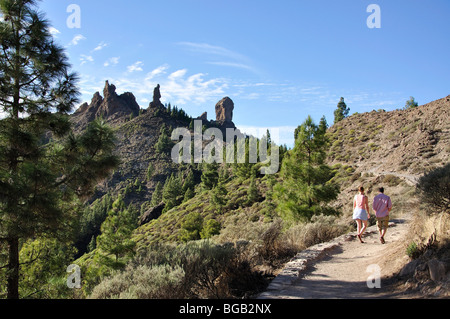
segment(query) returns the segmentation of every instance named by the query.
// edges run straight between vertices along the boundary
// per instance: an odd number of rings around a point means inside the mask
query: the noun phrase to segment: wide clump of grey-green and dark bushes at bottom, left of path
[[[237,247],[202,240],[140,251],[123,272],[95,287],[91,298],[242,298],[266,285]]]

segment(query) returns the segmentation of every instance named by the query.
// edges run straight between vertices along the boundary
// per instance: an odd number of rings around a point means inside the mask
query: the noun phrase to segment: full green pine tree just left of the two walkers
[[[275,186],[274,199],[286,219],[310,220],[317,214],[336,213],[326,206],[336,199],[339,189],[330,182],[332,171],[324,164],[327,140],[323,125],[316,126],[308,116],[297,130],[294,149],[283,161],[283,183]]]

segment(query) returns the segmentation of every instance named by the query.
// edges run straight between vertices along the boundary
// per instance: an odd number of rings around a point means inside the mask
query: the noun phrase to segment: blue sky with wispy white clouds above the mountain
[[[67,19],[80,8],[80,28]],[[370,4],[381,28],[369,28]],[[79,73],[83,101],[109,80],[141,107],[163,102],[196,117],[224,96],[244,131],[278,128],[292,145],[344,97],[354,112],[401,108],[450,94],[448,0],[43,0]]]

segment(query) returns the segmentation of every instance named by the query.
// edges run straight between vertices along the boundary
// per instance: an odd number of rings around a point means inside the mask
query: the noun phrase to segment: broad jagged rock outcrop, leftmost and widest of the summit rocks
[[[96,92],[90,104],[84,103],[75,111],[72,120],[75,123],[75,130],[79,131],[99,117],[110,123],[123,123],[131,114],[132,117],[139,115],[139,109],[132,93],[117,95],[115,85],[106,81],[103,97]]]

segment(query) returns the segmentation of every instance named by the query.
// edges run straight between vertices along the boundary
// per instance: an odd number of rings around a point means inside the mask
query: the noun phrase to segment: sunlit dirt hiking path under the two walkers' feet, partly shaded
[[[300,253],[288,263],[259,299],[353,299],[401,298],[386,284],[408,257],[404,238],[408,231],[406,219],[395,219],[380,243],[376,226],[368,228],[360,243],[356,233],[341,236],[332,242],[317,245]],[[379,266],[381,288],[369,288],[369,278]],[[369,270],[369,272],[367,272]]]

